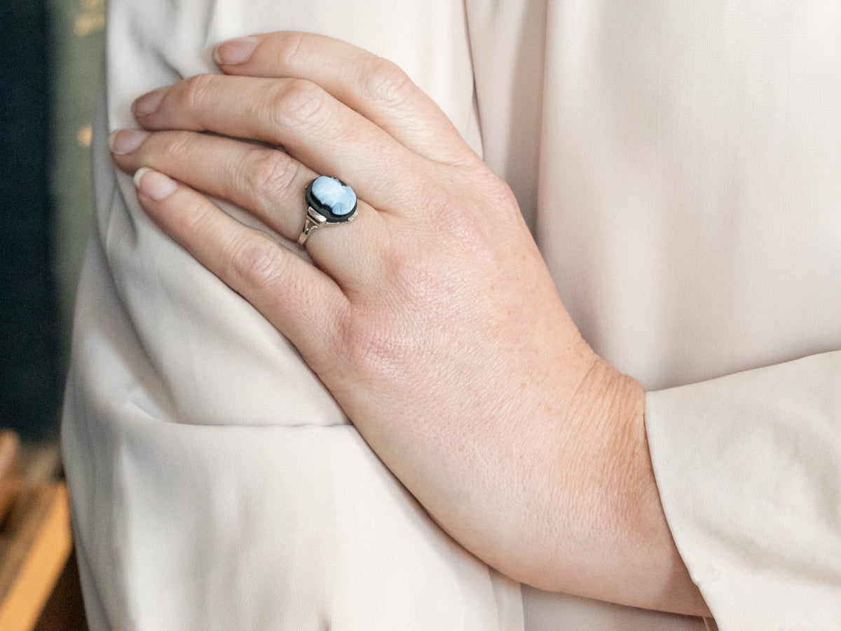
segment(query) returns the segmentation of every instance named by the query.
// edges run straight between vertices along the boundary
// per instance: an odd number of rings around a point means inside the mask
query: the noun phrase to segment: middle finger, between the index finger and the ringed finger
[[[198,75],[141,97],[135,118],[147,130],[211,131],[281,145],[312,171],[350,184],[378,210],[410,204],[429,169],[362,114],[304,79]]]

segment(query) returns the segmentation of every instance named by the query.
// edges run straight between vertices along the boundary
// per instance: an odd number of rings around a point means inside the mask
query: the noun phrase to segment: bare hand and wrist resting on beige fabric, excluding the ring
[[[318,35],[215,55],[225,76],[144,95],[141,130],[112,134],[151,219],[299,348],[473,554],[545,590],[708,614],[660,505],[643,388],[579,335],[510,189],[435,103]],[[318,174],[359,215],[309,236],[311,264],[204,196],[294,241]]]

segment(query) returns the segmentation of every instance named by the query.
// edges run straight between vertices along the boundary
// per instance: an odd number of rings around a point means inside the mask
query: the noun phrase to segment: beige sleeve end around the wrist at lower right
[[[648,394],[669,526],[725,629],[841,626],[841,352]]]

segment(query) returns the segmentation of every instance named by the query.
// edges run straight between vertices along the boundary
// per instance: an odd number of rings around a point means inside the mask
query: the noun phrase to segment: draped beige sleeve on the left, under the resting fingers
[[[389,56],[468,129],[462,13],[437,0],[110,3],[62,424],[91,628],[522,628],[520,586],[448,538],[294,347],[157,231],[107,146],[133,125],[132,99],[212,72],[216,42],[282,28]]]

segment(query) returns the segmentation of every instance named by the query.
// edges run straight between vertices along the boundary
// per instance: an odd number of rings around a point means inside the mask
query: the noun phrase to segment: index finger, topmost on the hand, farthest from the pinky
[[[214,58],[230,75],[315,82],[434,162],[477,159],[447,115],[405,72],[367,50],[325,35],[286,31],[222,42]]]

